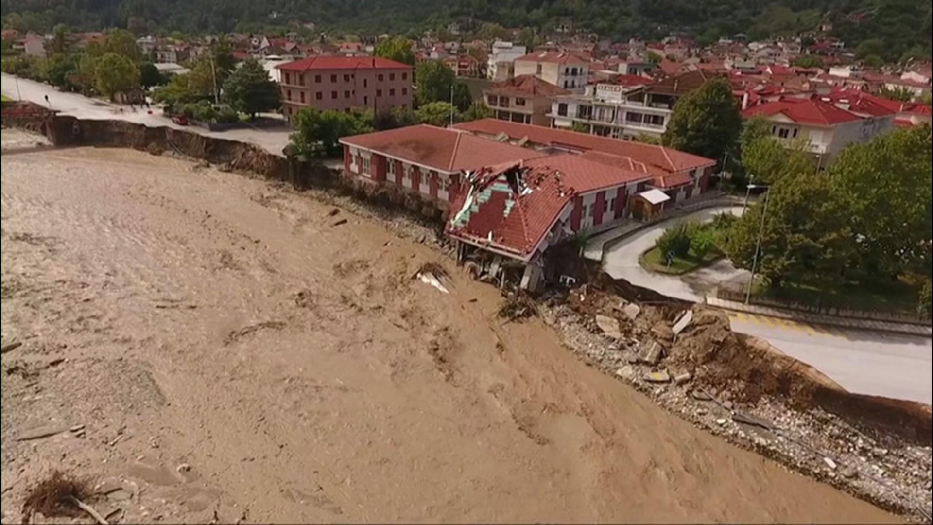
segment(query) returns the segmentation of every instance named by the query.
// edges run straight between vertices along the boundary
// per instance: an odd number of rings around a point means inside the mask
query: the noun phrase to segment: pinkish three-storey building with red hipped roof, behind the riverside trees
[[[411,65],[382,57],[315,56],[277,66],[285,119],[301,107],[411,107]]]

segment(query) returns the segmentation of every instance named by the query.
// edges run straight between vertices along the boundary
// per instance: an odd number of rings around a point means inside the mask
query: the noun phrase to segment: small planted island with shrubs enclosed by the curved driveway
[[[690,220],[672,226],[638,262],[652,272],[674,276],[716,262],[725,257],[723,247],[735,220],[734,215],[724,212],[711,221]]]

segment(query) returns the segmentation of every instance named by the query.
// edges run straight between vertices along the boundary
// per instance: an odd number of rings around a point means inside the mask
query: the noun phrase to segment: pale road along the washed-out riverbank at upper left
[[[61,111],[63,115],[72,115],[80,119],[119,120],[137,122],[147,126],[169,126],[177,129],[187,129],[201,135],[250,142],[277,155],[281,155],[282,149],[288,144],[290,129],[285,125],[274,129],[250,128],[211,132],[196,126],[176,125],[171,120],[163,117],[160,109],[153,108],[152,114],[146,113],[145,109],[132,111],[129,106],[107,104],[76,93],[60,92],[48,84],[24,78],[17,80],[17,78],[6,73],[0,74],[0,80],[2,80],[0,81],[0,89],[2,89],[3,94],[14,100],[18,100],[22,96],[22,100],[47,106],[45,97],[48,96],[49,106],[52,109]],[[19,84],[19,90],[17,84]],[[120,112],[121,107],[123,108],[122,113]]]

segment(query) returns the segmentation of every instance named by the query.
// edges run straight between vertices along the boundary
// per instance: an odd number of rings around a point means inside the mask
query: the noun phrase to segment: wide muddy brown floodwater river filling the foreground
[[[895,520],[499,326],[378,224],[135,151],[3,168],[5,520],[56,466],[124,521]]]

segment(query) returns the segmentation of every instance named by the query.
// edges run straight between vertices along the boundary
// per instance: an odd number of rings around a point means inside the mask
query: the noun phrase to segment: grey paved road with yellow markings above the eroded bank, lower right
[[[814,366],[842,388],[930,403],[930,339],[804,324],[752,314],[730,314],[732,330],[768,340]]]

